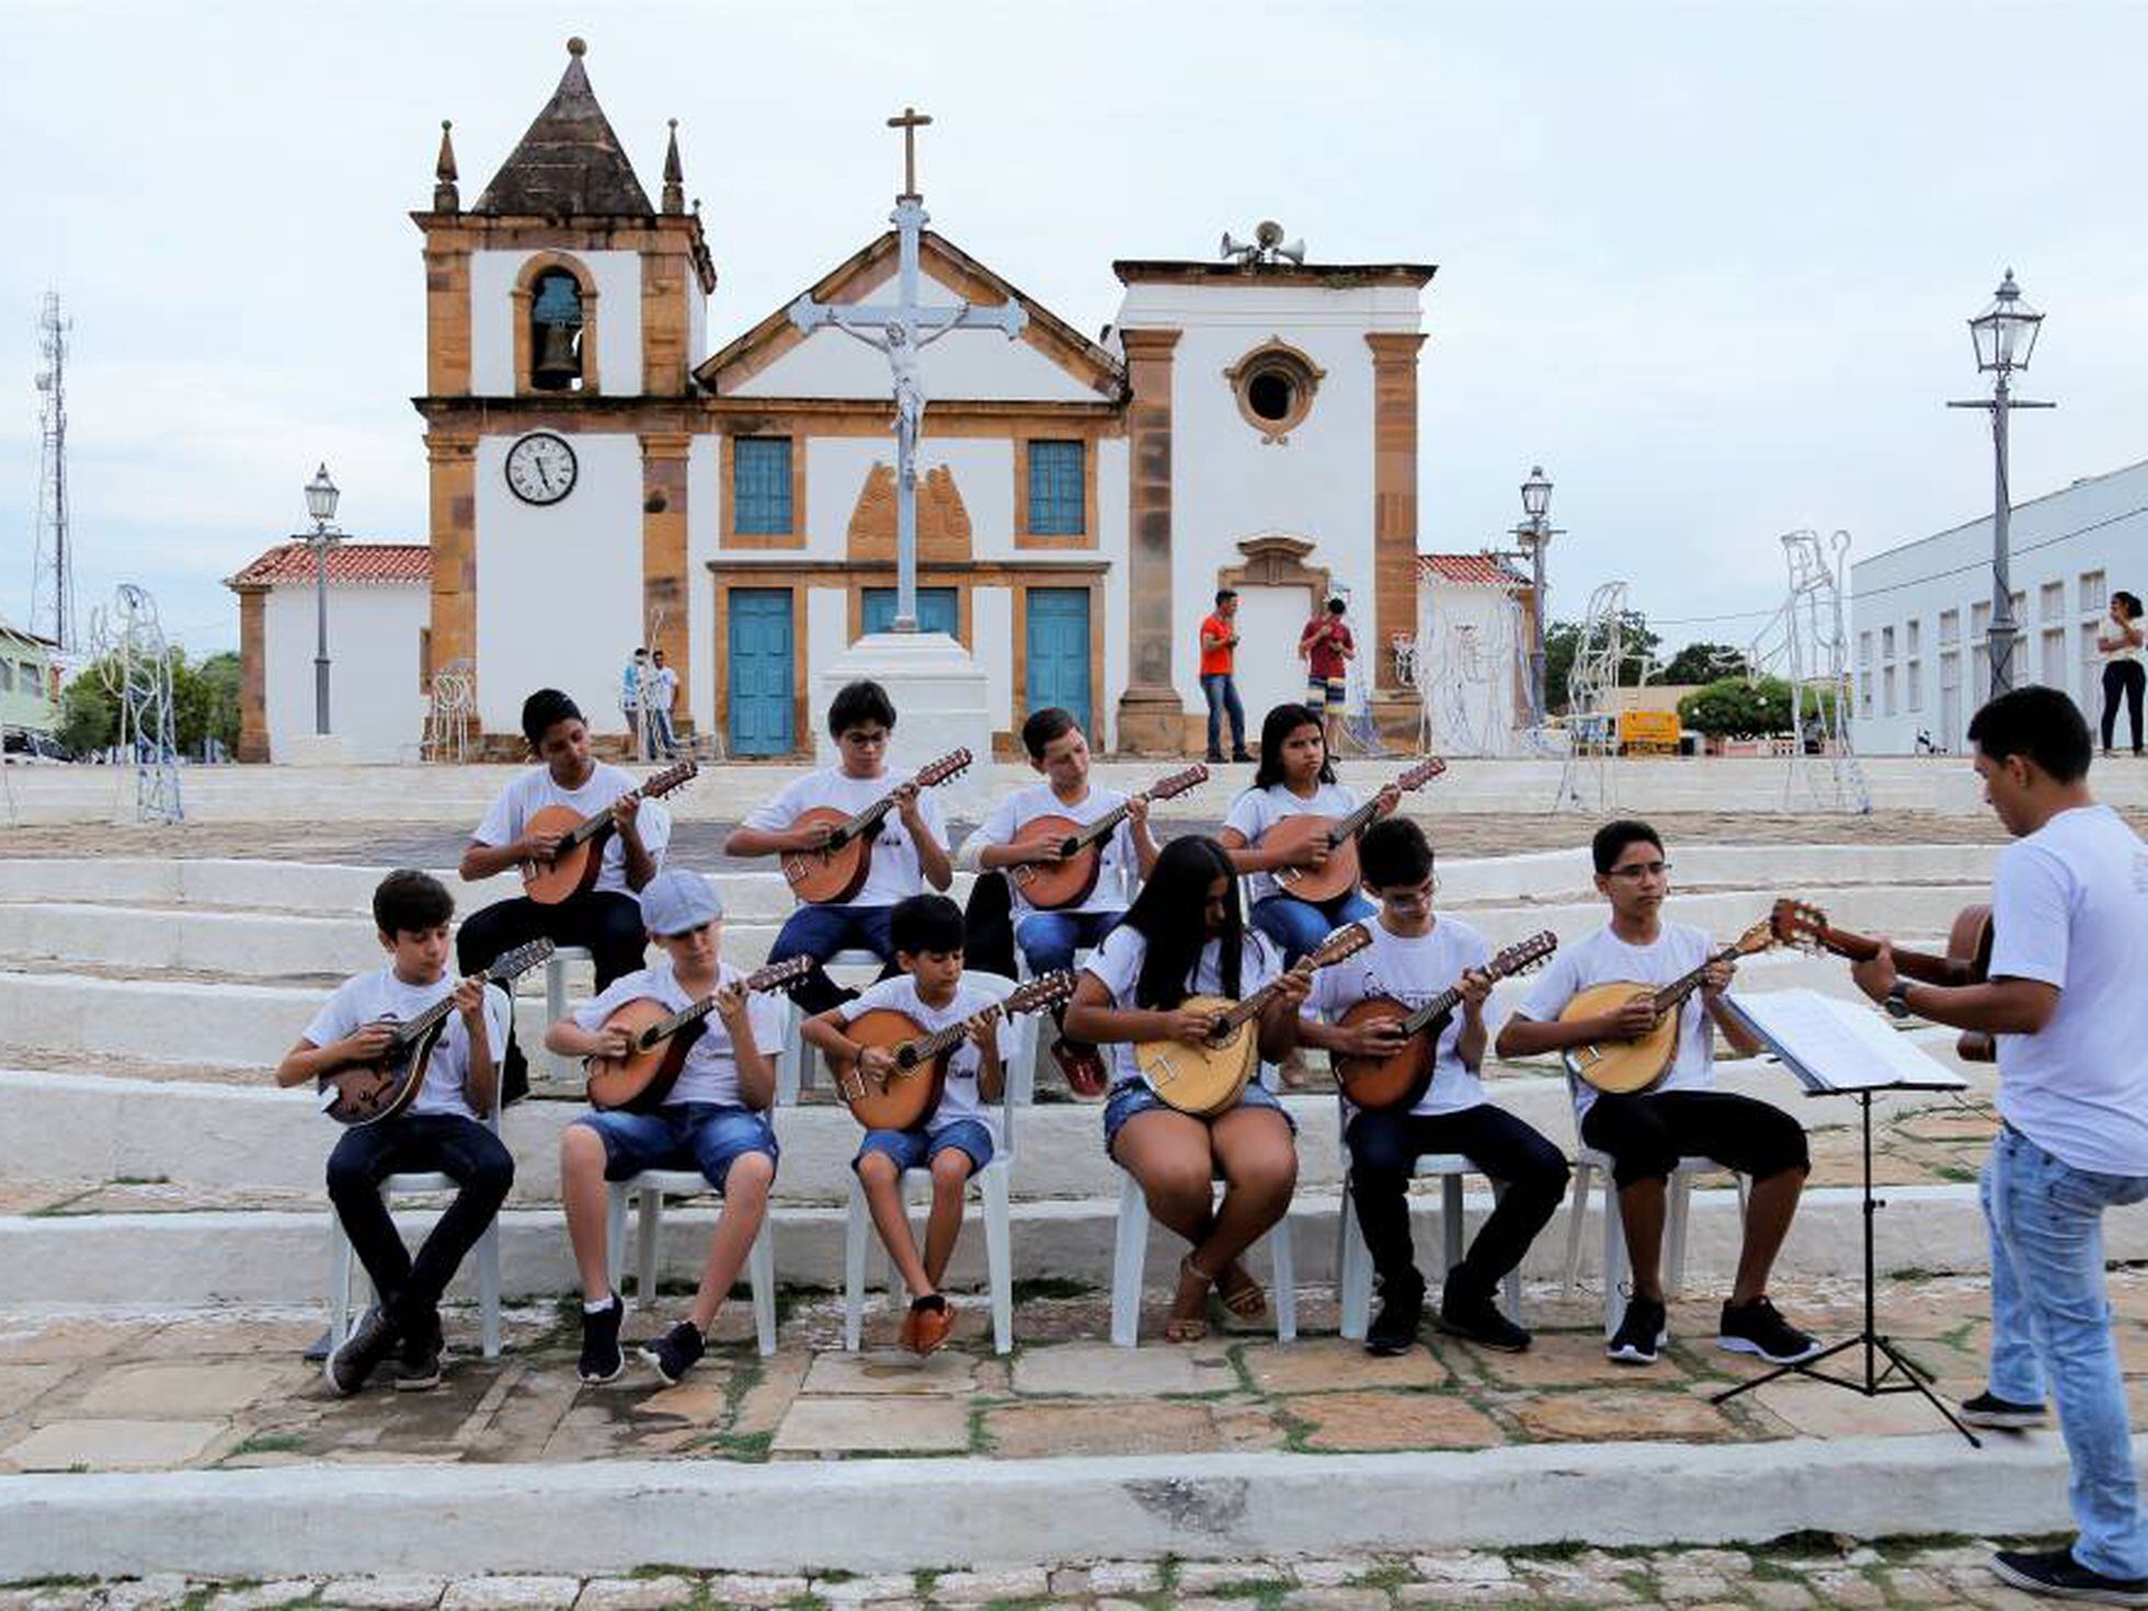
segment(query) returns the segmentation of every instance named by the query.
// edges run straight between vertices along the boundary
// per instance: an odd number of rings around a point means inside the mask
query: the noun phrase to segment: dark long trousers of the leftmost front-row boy
[[[380,1181],[425,1171],[447,1175],[462,1190],[412,1259],[380,1201]],[[430,1321],[513,1181],[513,1153],[492,1130],[460,1113],[417,1113],[359,1126],[346,1130],[329,1153],[335,1218],[344,1222],[380,1302],[406,1330]]]

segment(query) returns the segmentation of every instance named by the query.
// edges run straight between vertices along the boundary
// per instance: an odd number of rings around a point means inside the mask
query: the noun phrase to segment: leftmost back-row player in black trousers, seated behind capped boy
[[[539,687],[522,700],[522,737],[539,765],[492,801],[462,853],[462,879],[475,883],[520,868],[528,881],[563,855],[567,836],[561,827],[569,816],[610,812],[610,827],[576,851],[597,859],[593,879],[584,879],[563,900],[511,896],[470,913],[455,937],[455,962],[464,973],[477,973],[500,952],[543,937],[586,947],[601,990],[642,964],[647,930],[634,891],[664,863],[670,812],[659,801],[644,801],[629,773],[589,752],[582,711],[556,687]],[[537,823],[541,812],[552,816]],[[500,1078],[509,1102],[528,1091],[528,1063],[511,1033]]]

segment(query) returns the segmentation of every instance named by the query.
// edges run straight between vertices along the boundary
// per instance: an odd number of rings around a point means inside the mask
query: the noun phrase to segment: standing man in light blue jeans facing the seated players
[[[2073,700],[2017,687],[1970,722],[1985,799],[2015,842],[1991,876],[1991,967],[1914,984],[1882,945],[1854,969],[1886,1010],[1998,1037],[2004,1128],[1983,1173],[1991,1229],[1991,1383],[1976,1426],[2034,1426],[2049,1383],[2079,1536],[2000,1551],[2015,1587],[2148,1605],[2148,1521],[2103,1282],[2103,1214],[2148,1201],[2148,844],[2088,790]]]

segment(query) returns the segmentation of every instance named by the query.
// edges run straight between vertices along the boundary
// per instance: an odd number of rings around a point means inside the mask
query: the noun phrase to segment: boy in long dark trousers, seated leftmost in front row
[[[329,1385],[339,1394],[363,1388],[391,1351],[400,1390],[438,1385],[440,1293],[516,1179],[513,1156],[479,1121],[498,1104],[492,1048],[507,1044],[507,999],[477,979],[449,979],[447,921],[453,915],[455,898],[432,874],[406,870],[382,879],[374,889],[374,928],[389,954],[387,967],[346,979],[275,1072],[275,1083],[288,1087],[376,1063],[389,1050],[395,1022],[417,1018],[440,997],[455,999],[410,1106],[346,1130],[329,1153],[329,1201],[380,1293],[329,1355]],[[455,1181],[455,1201],[412,1259],[380,1201],[380,1181],[434,1171]]]

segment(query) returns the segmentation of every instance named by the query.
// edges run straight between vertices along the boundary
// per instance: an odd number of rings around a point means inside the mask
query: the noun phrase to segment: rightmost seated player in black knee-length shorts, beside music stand
[[[1703,930],[1663,921],[1671,863],[1663,857],[1656,829],[1635,821],[1605,823],[1590,853],[1611,921],[1579,945],[1559,947],[1499,1031],[1497,1055],[1534,1057],[1643,1040],[1658,1020],[1648,986],[1680,988],[1688,979],[1699,986],[1671,1007],[1678,1033],[1669,1068],[1654,1085],[1613,1093],[1570,1076],[1581,1141],[1611,1158],[1632,1263],[1632,1302],[1607,1353],[1620,1364],[1656,1362],[1665,1342],[1665,1186],[1680,1158],[1699,1156],[1753,1179],[1738,1276],[1723,1304],[1716,1345],[1757,1353],[1770,1364],[1809,1360],[1819,1342],[1768,1302],[1768,1274],[1811,1173],[1804,1126],[1770,1102],[1710,1089],[1714,1029],[1723,1029],[1742,1055],[1759,1050],[1751,1031],[1723,1007],[1723,992],[1738,969],[1714,952]],[[1632,995],[1613,1012],[1562,1018],[1574,997],[1600,984],[1630,984]]]

